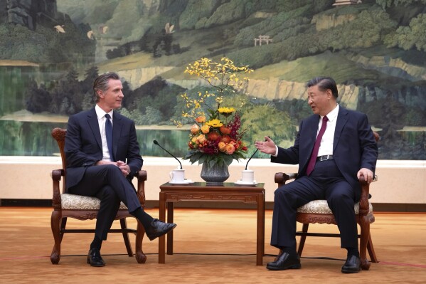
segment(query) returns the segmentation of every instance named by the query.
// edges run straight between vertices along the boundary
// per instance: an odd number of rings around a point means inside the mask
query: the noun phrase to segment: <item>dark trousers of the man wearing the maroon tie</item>
[[[280,186],[275,191],[271,246],[296,250],[297,208],[316,199],[326,199],[336,219],[342,248],[358,248],[358,230],[353,209],[355,194],[334,160],[316,162],[309,177]]]

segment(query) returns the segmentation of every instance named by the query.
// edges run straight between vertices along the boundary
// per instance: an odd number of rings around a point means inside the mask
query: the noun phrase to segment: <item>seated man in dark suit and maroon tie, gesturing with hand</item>
[[[378,148],[368,118],[361,112],[339,107],[336,82],[317,77],[307,83],[308,103],[314,115],[302,120],[294,146],[277,147],[269,138],[255,142],[271,162],[299,164],[294,182],[275,191],[271,246],[279,248],[270,270],[301,268],[296,252],[297,208],[326,199],[341,233],[341,247],[348,251],[343,273],[358,273],[361,261],[354,204],[359,201],[363,176],[372,182]]]

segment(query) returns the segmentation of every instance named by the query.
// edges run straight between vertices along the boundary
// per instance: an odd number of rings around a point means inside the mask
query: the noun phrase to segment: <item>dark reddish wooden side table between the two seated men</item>
[[[159,219],[173,223],[174,202],[178,201],[239,201],[257,204],[257,249],[256,265],[262,265],[265,254],[265,189],[264,184],[240,186],[225,182],[223,186],[206,186],[206,182],[193,184],[162,184],[160,186]],[[159,237],[159,263],[166,263],[165,236]],[[167,254],[173,254],[173,231],[167,234]]]

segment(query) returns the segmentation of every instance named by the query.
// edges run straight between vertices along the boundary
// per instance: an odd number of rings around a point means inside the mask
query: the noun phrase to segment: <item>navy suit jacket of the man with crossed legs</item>
[[[129,181],[142,168],[134,121],[113,112],[112,152],[116,161],[126,162],[130,167]],[[102,139],[95,108],[71,115],[65,138],[67,163],[66,188],[78,184],[87,167],[102,160]]]

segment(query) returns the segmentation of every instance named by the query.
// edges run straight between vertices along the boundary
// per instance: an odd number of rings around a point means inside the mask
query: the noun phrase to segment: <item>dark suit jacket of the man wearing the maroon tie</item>
[[[294,146],[288,149],[278,147],[277,157],[271,157],[271,162],[299,164],[298,178],[305,176],[316,140],[318,122],[319,115],[311,115],[302,120]],[[374,173],[378,157],[377,143],[368,124],[367,115],[339,107],[333,157],[341,174],[354,189],[358,201],[361,197],[361,186],[356,174],[361,168],[370,169]]]

